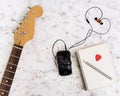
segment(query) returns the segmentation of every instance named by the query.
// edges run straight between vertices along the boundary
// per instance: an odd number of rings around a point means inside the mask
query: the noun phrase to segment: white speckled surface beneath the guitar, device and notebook
[[[0,0],[0,79],[14,43],[13,32],[25,16],[30,5],[28,1]],[[9,96],[120,96],[120,0],[30,0],[30,2],[31,6],[42,6],[44,14],[36,19],[33,40],[24,46]],[[72,49],[73,74],[61,77],[54,64],[52,44],[61,38],[65,40],[67,46],[71,46],[83,39],[90,28],[84,14],[92,6],[100,7],[104,17],[111,20],[111,30],[103,36],[92,34],[85,44]],[[109,44],[118,83],[85,91],[75,53],[79,48],[101,42]]]

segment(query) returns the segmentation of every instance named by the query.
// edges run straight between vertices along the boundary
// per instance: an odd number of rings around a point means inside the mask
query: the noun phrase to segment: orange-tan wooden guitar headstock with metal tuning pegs
[[[43,10],[40,6],[34,6],[30,9],[15,32],[14,44],[24,46],[27,41],[33,38],[35,19],[40,17],[42,13]]]

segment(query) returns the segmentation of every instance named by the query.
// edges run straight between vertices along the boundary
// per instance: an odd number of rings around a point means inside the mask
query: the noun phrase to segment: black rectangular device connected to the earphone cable
[[[72,73],[71,68],[71,54],[69,51],[58,51],[56,55],[59,74],[62,76],[70,75]]]

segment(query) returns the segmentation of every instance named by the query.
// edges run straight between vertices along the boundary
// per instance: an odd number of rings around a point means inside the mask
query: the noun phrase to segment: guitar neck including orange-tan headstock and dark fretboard
[[[22,48],[34,35],[35,19],[40,17],[43,10],[40,6],[33,6],[14,35],[14,46],[8,60],[2,81],[0,83],[0,96],[8,96],[14,79]]]

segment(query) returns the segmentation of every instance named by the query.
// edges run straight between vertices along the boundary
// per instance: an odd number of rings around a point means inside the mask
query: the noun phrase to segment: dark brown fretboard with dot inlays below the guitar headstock
[[[9,95],[21,52],[22,47],[14,44],[2,81],[0,83],[0,96]]]

